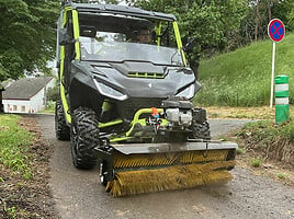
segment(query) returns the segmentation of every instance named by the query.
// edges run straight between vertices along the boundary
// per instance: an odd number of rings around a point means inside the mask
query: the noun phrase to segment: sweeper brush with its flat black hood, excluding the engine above
[[[234,142],[132,143],[95,148],[101,182],[113,196],[228,182]]]

